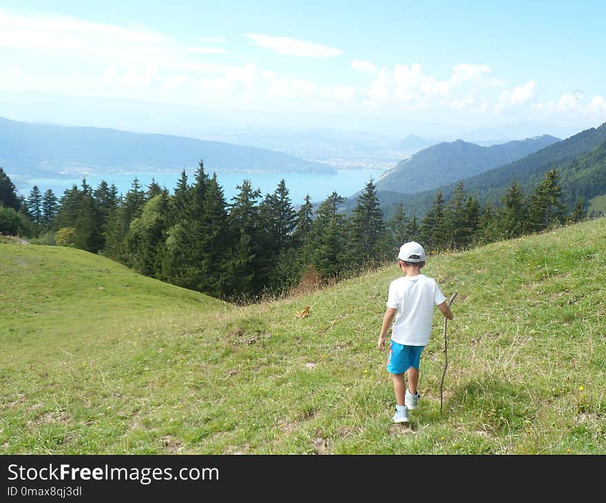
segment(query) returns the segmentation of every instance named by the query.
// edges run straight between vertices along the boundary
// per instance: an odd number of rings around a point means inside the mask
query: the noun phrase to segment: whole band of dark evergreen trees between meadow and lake
[[[185,170],[173,193],[152,181],[118,194],[83,179],[60,198],[33,187],[19,198],[0,168],[0,233],[37,236],[36,243],[100,253],[146,276],[232,302],[280,296],[313,280],[326,283],[393,260],[407,240],[428,251],[466,249],[541,232],[587,217],[578,197],[567,210],[555,169],[524,196],[512,183],[499,201],[481,206],[462,182],[446,201],[435,194],[420,220],[400,204],[384,218],[371,178],[351,214],[333,192],[314,211],[309,196],[293,206],[284,180],[263,195],[249,180],[226,201],[216,174],[200,161],[189,181]]]

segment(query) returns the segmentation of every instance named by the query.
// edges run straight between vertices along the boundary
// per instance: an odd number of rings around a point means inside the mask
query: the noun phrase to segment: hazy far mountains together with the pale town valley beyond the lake
[[[388,170],[415,152],[462,139],[493,145],[550,134],[567,138],[583,126],[531,121],[501,125],[395,122],[373,116],[315,112],[212,110],[174,103],[67,96],[49,92],[0,92],[0,116],[14,121],[94,126],[134,133],[185,136],[282,152],[337,169]],[[336,124],[341,125],[337,126]],[[592,125],[592,124],[589,124]],[[585,127],[589,127],[585,125]]]

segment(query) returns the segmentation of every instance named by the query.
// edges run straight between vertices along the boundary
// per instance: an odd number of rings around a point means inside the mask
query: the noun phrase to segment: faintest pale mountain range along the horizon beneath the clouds
[[[111,127],[117,130],[174,134],[189,138],[215,139],[240,145],[253,145],[233,141],[235,134],[255,132],[260,141],[265,133],[309,132],[331,130],[337,132],[364,133],[363,136],[382,136],[397,143],[410,134],[432,141],[453,141],[461,138],[472,143],[504,143],[541,134],[567,138],[589,127],[589,124],[566,123],[554,125],[533,121],[516,121],[499,125],[465,125],[409,121],[400,115],[397,121],[379,116],[344,115],[337,112],[271,112],[267,110],[216,110],[175,103],[138,101],[101,96],[68,96],[51,92],[0,92],[0,116],[25,122],[52,122],[63,125]],[[216,135],[211,138],[209,135]],[[357,135],[359,138],[359,135]],[[229,139],[228,139],[229,138]],[[266,145],[262,145],[267,147]],[[293,145],[294,146],[294,145]],[[271,150],[279,150],[274,145]]]

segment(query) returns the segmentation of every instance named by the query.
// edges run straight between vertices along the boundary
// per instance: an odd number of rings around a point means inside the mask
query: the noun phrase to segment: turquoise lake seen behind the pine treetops
[[[194,172],[187,173],[189,183],[194,183]],[[260,189],[262,195],[271,194],[278,187],[278,183],[284,179],[286,188],[289,189],[291,202],[294,206],[303,203],[306,194],[309,194],[311,203],[321,203],[332,192],[339,196],[353,196],[359,190],[364,189],[370,178],[376,182],[384,170],[338,170],[336,174],[305,174],[305,173],[278,173],[278,174],[255,174],[255,173],[217,173],[217,180],[221,185],[226,201],[229,203],[233,196],[238,194],[237,185],[242,185],[245,179],[251,182],[253,189]],[[210,173],[212,175],[212,172]],[[101,181],[105,180],[109,185],[116,185],[118,192],[126,194],[132,187],[134,178],[138,178],[140,185],[147,187],[152,178],[160,185],[166,187],[172,193],[180,178],[180,173],[137,173],[137,174],[87,174],[86,182],[96,188]],[[16,179],[14,184],[17,190],[27,197],[34,185],[41,192],[51,189],[59,198],[65,189],[72,185],[80,186],[82,176],[79,178],[30,178]]]

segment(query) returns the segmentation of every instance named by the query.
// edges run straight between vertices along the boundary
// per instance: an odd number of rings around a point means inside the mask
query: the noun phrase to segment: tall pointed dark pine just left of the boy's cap
[[[351,231],[351,258],[355,265],[374,265],[384,258],[381,248],[385,237],[385,223],[372,178],[357,198]]]

